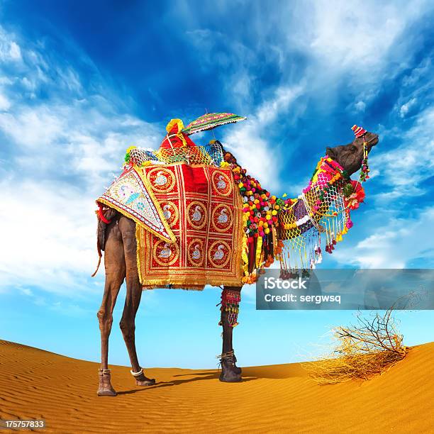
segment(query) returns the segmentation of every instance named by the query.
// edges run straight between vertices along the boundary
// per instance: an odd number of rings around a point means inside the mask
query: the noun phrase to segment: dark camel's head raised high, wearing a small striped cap
[[[363,143],[366,143],[367,152],[370,152],[373,146],[378,143],[378,135],[369,133],[363,128],[354,126],[356,138],[348,145],[335,146],[327,148],[326,154],[335,162],[338,162],[344,170],[351,176],[362,166],[363,160]]]

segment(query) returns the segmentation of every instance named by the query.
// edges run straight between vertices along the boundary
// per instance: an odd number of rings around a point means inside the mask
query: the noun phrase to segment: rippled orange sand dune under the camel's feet
[[[0,418],[43,418],[54,433],[434,432],[434,343],[369,382],[313,384],[299,364],[244,368],[242,383],[216,370],[147,369],[135,386],[113,366],[118,396],[98,397],[96,363],[0,340]]]

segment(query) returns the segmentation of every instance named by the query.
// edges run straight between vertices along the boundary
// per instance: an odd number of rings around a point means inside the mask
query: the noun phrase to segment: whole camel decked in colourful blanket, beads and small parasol
[[[113,308],[126,280],[121,330],[138,386],[145,376],[135,350],[135,315],[143,289],[221,286],[222,382],[239,382],[233,350],[240,291],[279,260],[282,275],[314,268],[350,229],[350,211],[365,196],[367,155],[378,136],[354,126],[355,140],[327,148],[296,199],[277,198],[212,140],[197,146],[189,135],[243,120],[210,113],[184,128],[167,126],[157,151],[128,148],[123,173],[96,201],[98,250],[104,250],[106,282],[98,312],[101,330],[99,396],[116,396],[108,365]],[[350,176],[361,169],[360,179]],[[96,273],[96,272],[95,272]]]

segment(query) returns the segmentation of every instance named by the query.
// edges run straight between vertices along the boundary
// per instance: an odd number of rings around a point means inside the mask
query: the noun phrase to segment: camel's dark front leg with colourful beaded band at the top
[[[221,296],[221,321],[223,326],[223,350],[221,354],[221,382],[240,382],[241,368],[232,344],[233,328],[237,325],[238,306],[241,299],[240,286],[225,286]]]

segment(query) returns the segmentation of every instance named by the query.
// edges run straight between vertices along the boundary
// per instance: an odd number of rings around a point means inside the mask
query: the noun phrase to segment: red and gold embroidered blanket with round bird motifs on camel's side
[[[138,273],[145,288],[241,285],[242,199],[230,169],[130,167],[98,201],[137,223]]]

